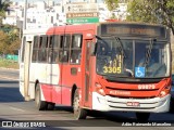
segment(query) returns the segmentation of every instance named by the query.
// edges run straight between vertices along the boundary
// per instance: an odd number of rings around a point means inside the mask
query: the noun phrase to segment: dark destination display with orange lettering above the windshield
[[[100,32],[101,35],[166,38],[165,27],[141,24],[101,24]]]

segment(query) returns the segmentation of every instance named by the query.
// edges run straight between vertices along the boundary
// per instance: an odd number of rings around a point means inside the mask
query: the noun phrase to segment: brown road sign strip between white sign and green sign
[[[86,12],[86,13],[67,13],[66,18],[73,18],[73,17],[98,17],[98,12]]]

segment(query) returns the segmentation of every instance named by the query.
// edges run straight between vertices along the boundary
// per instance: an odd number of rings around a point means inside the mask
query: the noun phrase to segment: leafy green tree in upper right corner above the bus
[[[129,0],[127,11],[127,21],[163,24],[174,34],[173,0]]]

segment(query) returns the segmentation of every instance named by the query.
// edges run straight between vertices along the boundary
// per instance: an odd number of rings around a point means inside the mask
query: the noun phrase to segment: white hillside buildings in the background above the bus
[[[94,9],[88,12],[88,10],[84,11],[84,4],[87,3],[89,8],[94,8],[97,5],[97,9]],[[67,13],[72,13],[67,11],[67,6],[73,6],[76,4],[77,10],[82,10],[84,12],[77,13],[90,13],[95,16],[89,17],[67,17]],[[95,4],[95,5],[94,5]],[[22,23],[24,22],[24,1],[13,2],[13,4],[7,11],[7,16],[3,20],[3,24],[10,25],[17,25],[22,27]],[[105,22],[109,20],[113,14],[120,21],[124,21],[126,18],[126,10],[127,4],[125,2],[120,3],[120,6],[114,11],[110,12],[104,3],[97,3],[97,0],[78,0],[78,1],[71,1],[71,0],[63,0],[59,3],[55,3],[53,0],[46,0],[46,1],[35,1],[27,4],[27,17],[26,17],[26,28],[46,28],[51,26],[59,26],[64,25],[67,22],[70,24],[78,24],[78,22]],[[96,14],[97,13],[97,14]],[[85,15],[87,16],[87,14]],[[98,18],[97,18],[98,17]],[[74,20],[75,18],[75,20]],[[69,20],[69,21],[67,21]],[[73,23],[77,22],[77,23]]]

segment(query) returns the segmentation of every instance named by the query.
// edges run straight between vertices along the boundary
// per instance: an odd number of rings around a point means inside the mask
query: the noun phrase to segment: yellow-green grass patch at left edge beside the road
[[[12,60],[0,58],[0,67],[18,69],[18,63]]]

